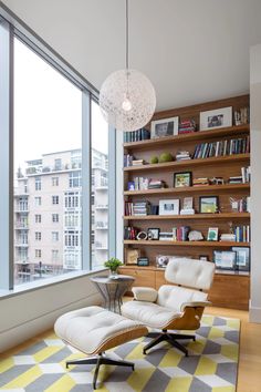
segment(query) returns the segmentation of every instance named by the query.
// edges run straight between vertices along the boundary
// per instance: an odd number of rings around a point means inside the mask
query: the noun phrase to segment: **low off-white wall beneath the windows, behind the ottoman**
[[[100,302],[90,276],[0,299],[0,352],[53,328],[70,310]]]

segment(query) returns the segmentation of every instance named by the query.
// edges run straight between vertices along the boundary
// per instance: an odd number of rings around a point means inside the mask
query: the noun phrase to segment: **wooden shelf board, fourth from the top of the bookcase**
[[[125,220],[194,220],[194,219],[249,219],[249,213],[195,214],[195,215],[126,215]]]

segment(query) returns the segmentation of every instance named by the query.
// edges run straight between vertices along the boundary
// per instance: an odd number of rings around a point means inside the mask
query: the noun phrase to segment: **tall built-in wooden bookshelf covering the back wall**
[[[249,95],[219,100],[194,106],[179,107],[156,113],[153,120],[161,120],[179,116],[179,118],[194,118],[199,124],[200,112],[219,107],[232,106],[233,111],[249,106]],[[148,128],[149,128],[148,124]],[[231,250],[232,247],[250,247],[250,243],[237,241],[208,241],[206,240],[209,227],[218,227],[219,234],[230,233],[231,227],[248,226],[249,213],[234,213],[231,209],[231,199],[241,199],[250,195],[250,184],[230,184],[229,177],[240,176],[241,167],[250,165],[250,154],[233,154],[207,158],[187,161],[173,161],[167,163],[150,164],[154,156],[161,153],[170,153],[174,157],[179,151],[188,151],[194,155],[196,145],[201,143],[215,143],[222,140],[241,138],[250,135],[249,124],[197,131],[189,134],[180,134],[161,138],[153,138],[140,142],[124,143],[125,154],[134,155],[136,159],[143,159],[144,165],[124,167],[123,196],[126,202],[148,200],[152,205],[158,205],[160,199],[179,199],[182,208],[184,197],[194,197],[195,215],[147,215],[123,216],[124,226],[134,226],[138,231],[147,231],[148,228],[159,228],[160,231],[171,231],[173,227],[189,226],[190,230],[202,233],[201,241],[174,241],[174,240],[123,240],[125,249],[138,249],[140,256],[148,257],[149,267],[125,266],[122,274],[135,277],[136,286],[149,286],[158,289],[165,283],[164,270],[156,268],[156,256],[180,256],[198,259],[200,256],[213,258],[213,250]],[[189,187],[174,187],[174,174],[191,172],[192,178],[222,177],[223,185],[203,185]],[[165,188],[127,190],[128,182],[135,177],[148,177],[165,182]],[[217,196],[219,199],[218,214],[200,214],[199,197]],[[248,309],[250,277],[247,275],[232,275],[231,272],[217,271],[213,288],[210,290],[210,300],[213,305]],[[234,293],[240,288],[240,298]],[[226,301],[223,300],[226,292]],[[239,299],[237,299],[237,298]]]

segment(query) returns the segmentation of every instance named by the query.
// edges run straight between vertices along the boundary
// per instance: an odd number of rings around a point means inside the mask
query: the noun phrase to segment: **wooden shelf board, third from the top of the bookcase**
[[[180,188],[158,188],[144,190],[125,190],[124,196],[149,196],[149,195],[173,195],[173,194],[195,194],[207,192],[233,192],[233,190],[249,190],[250,184],[225,184],[225,185],[205,185],[205,186],[185,186]]]

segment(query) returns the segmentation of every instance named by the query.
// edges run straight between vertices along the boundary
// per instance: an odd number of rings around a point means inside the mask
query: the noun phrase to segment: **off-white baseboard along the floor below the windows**
[[[30,320],[21,326],[11,328],[2,333],[0,333],[0,353],[7,351],[24,341],[34,338],[39,333],[48,331],[53,328],[55,320],[63,313],[84,308],[87,306],[100,305],[101,296],[98,293],[93,293],[86,297],[84,300],[80,300],[67,307],[55,309],[46,314],[43,314],[36,319]]]

